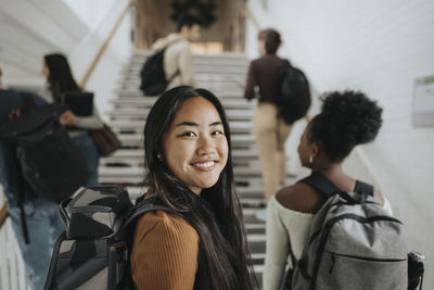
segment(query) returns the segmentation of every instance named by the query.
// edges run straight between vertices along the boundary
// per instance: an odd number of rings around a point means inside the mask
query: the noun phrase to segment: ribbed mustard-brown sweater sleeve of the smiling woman
[[[139,290],[192,290],[199,236],[182,217],[156,211],[136,226],[130,266]]]

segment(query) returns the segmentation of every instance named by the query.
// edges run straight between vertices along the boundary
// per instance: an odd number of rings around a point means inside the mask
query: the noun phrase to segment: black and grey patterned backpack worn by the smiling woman
[[[129,255],[138,218],[166,211],[186,219],[156,194],[132,205],[118,185],[81,188],[59,211],[66,231],[54,245],[44,290],[132,290]]]

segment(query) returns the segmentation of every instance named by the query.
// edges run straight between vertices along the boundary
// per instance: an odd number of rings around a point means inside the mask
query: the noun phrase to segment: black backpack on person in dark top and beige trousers
[[[279,116],[286,124],[304,117],[310,106],[309,81],[305,74],[285,60],[280,74]]]

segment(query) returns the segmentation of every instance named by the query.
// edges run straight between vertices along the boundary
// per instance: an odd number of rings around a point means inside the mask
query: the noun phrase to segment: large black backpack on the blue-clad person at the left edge
[[[13,146],[17,175],[31,192],[59,203],[86,184],[86,159],[59,123],[62,105],[35,106],[34,96],[21,94],[23,113],[0,126],[0,140]]]

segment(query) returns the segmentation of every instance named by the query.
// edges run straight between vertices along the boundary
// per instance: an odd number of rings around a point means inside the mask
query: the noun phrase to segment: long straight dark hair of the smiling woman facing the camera
[[[217,109],[229,147],[228,162],[217,184],[203,189],[200,198],[157,157],[162,153],[163,137],[179,108],[195,97],[205,98]],[[177,87],[166,91],[155,102],[144,126],[145,182],[165,203],[190,219],[200,238],[195,289],[254,289],[242,209],[234,191],[230,142],[224,108],[217,97],[205,89]]]

